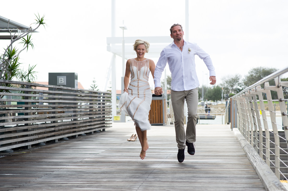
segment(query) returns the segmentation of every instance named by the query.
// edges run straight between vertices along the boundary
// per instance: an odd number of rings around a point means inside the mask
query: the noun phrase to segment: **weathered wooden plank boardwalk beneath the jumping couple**
[[[133,124],[0,153],[0,190],[265,190],[229,125],[197,125],[196,153],[179,163],[174,125],[152,126],[141,160]]]

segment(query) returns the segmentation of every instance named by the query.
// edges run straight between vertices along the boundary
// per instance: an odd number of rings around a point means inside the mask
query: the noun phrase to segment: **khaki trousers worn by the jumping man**
[[[188,121],[186,135],[184,129],[184,100],[187,103]],[[198,108],[198,88],[187,91],[171,90],[171,101],[175,117],[176,142],[179,149],[185,149],[185,141],[194,143],[196,141],[196,123]]]

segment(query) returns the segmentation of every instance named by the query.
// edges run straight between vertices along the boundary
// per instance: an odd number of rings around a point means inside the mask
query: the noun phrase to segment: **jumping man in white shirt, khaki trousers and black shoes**
[[[174,24],[170,28],[173,42],[164,47],[154,72],[155,95],[163,93],[160,83],[162,72],[168,62],[172,76],[171,101],[175,116],[176,142],[178,146],[178,161],[184,161],[185,145],[190,155],[195,154],[196,122],[198,108],[199,81],[195,69],[195,54],[206,64],[210,73],[210,84],[216,83],[215,69],[207,54],[197,44],[184,41],[182,26]],[[161,93],[160,93],[161,92]],[[184,130],[184,101],[187,102],[188,121],[186,135]]]

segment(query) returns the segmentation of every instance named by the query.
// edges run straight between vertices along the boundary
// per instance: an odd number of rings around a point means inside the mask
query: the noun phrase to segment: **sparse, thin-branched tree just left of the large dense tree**
[[[235,75],[228,75],[226,77],[222,78],[222,83],[220,84],[223,87],[224,93],[238,93],[242,86],[241,82],[241,75],[235,74]]]

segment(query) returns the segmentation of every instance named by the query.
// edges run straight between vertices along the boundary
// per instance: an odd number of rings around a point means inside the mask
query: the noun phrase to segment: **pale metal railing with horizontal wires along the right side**
[[[278,70],[230,98],[231,128],[237,127],[279,180],[288,180],[288,67]],[[270,80],[275,85],[269,85]],[[261,87],[262,85],[262,87]],[[278,99],[272,99],[272,92]],[[230,111],[228,110],[230,109]]]

